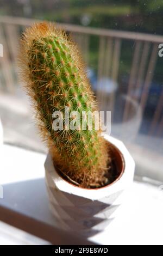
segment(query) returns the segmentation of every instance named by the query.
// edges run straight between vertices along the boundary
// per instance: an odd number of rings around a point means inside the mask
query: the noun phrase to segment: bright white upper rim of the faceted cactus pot
[[[109,136],[104,135],[104,138],[109,143],[113,144],[123,156],[124,159],[124,172],[122,175],[112,182],[111,184],[101,187],[101,188],[82,188],[72,185],[70,182],[64,180],[57,172],[54,167],[51,154],[48,153],[45,161],[45,171],[46,171],[46,184],[50,187],[55,187],[58,191],[66,192],[74,196],[79,196],[83,198],[88,198],[91,200],[98,200],[102,197],[109,197],[113,193],[118,191],[123,191],[124,188],[130,186],[133,181],[135,162],[133,157],[131,157],[129,151],[120,140]]]

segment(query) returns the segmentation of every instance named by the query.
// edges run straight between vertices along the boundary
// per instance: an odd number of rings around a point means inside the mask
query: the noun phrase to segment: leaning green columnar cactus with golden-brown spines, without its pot
[[[109,183],[108,146],[101,132],[78,126],[68,130],[52,127],[54,111],[97,110],[79,50],[65,32],[50,22],[36,23],[27,28],[21,40],[21,69],[26,89],[36,109],[37,121],[46,138],[57,169],[67,179],[82,187],[101,187]],[[69,123],[76,117],[71,117]]]

